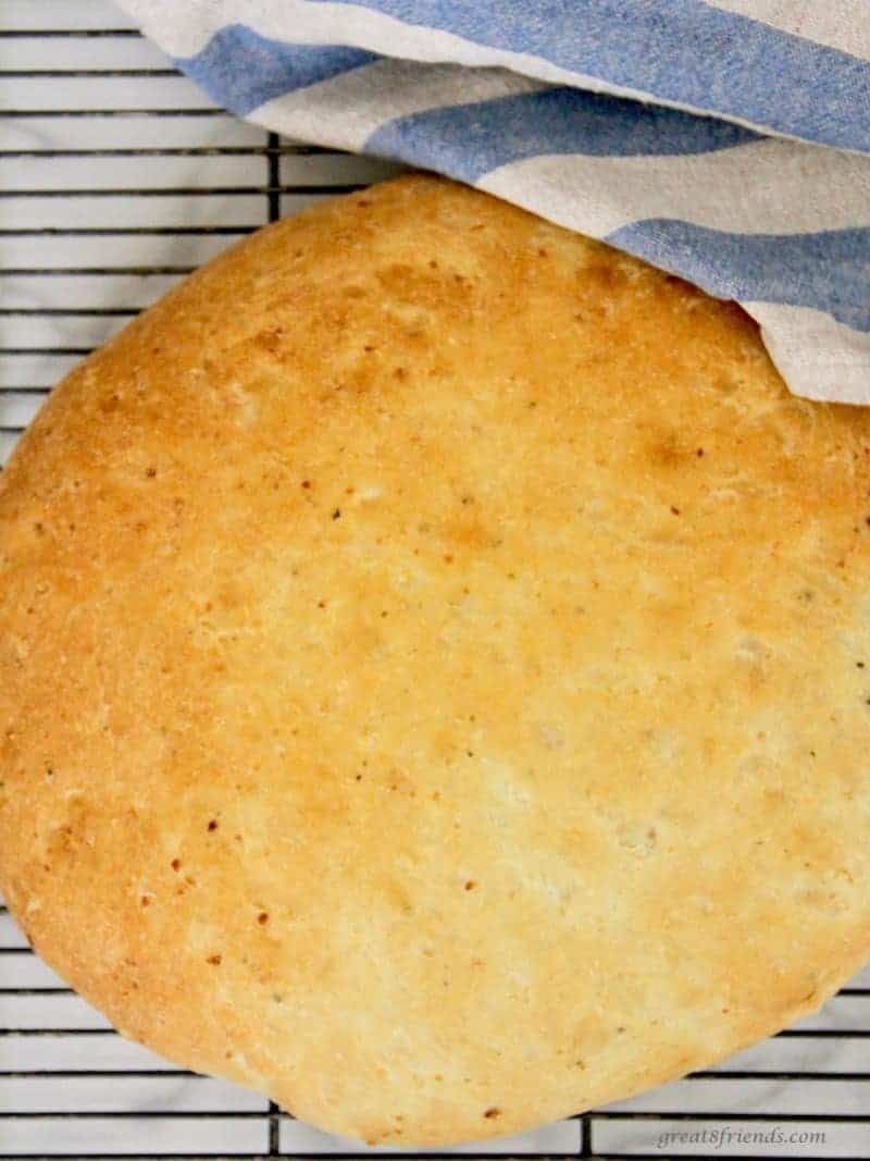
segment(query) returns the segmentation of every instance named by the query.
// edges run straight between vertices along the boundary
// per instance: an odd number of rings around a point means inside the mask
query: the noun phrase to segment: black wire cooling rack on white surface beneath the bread
[[[391,172],[227,116],[106,0],[3,0],[0,461],[49,388],[189,269],[267,221]],[[0,908],[0,1156],[374,1152],[385,1151],[123,1040]],[[870,971],[711,1072],[450,1152],[870,1158]]]

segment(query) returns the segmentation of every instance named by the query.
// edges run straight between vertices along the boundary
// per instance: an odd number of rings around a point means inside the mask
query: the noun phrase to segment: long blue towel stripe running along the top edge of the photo
[[[870,151],[870,60],[702,0],[346,2],[661,100]]]

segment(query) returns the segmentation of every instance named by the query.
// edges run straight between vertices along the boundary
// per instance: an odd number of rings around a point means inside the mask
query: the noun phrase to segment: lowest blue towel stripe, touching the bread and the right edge
[[[647,218],[606,239],[719,298],[826,311],[870,331],[870,226],[818,233],[727,233]]]

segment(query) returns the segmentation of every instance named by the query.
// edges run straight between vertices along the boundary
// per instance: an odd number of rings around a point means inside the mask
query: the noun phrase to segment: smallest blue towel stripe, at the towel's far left
[[[341,44],[285,44],[245,24],[227,24],[194,57],[175,63],[224,108],[240,116],[297,88],[378,60]]]

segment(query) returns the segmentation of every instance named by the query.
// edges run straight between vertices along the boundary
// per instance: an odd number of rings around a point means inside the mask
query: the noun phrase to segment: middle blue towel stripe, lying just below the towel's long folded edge
[[[757,139],[728,121],[559,86],[397,117],[364,147],[477,181],[510,161],[542,154],[708,153]]]

